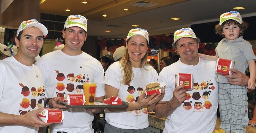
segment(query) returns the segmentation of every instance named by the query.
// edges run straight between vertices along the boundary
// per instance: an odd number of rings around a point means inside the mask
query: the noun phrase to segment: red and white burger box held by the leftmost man
[[[44,123],[61,123],[64,119],[64,114],[62,110],[45,108],[38,113],[38,118]]]

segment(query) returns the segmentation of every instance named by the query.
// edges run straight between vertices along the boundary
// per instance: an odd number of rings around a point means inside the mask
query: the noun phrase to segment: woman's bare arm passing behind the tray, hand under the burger
[[[105,85],[106,86],[106,97],[110,98],[112,96],[117,96],[119,89],[112,87],[110,85]],[[148,98],[145,99],[145,92],[143,92],[140,96],[137,102],[129,103],[127,108],[108,108],[109,111],[111,112],[125,112],[125,111],[130,111],[130,110],[135,110],[144,106],[149,106],[151,104],[156,103],[161,94],[153,94],[149,96]]]

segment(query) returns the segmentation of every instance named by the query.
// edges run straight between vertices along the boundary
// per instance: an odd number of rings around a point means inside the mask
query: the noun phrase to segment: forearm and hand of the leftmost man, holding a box
[[[27,112],[24,115],[14,115],[0,112],[0,125],[20,125],[20,126],[31,126],[31,127],[46,127],[51,123],[44,123],[39,120],[37,114],[43,111],[44,107]]]

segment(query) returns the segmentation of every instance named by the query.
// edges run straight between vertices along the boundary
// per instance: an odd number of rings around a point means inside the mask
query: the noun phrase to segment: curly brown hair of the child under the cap
[[[240,34],[239,34],[239,37],[240,36],[243,36],[245,30],[248,28],[249,24],[245,21],[242,22],[242,24],[239,24],[237,21],[233,20],[233,19],[230,19],[230,20],[227,20],[225,22],[223,22],[221,25],[220,24],[217,24],[215,25],[215,33],[217,35],[220,35],[221,37],[225,37],[222,33],[223,33],[223,27],[224,25],[237,25],[239,28],[240,28]]]

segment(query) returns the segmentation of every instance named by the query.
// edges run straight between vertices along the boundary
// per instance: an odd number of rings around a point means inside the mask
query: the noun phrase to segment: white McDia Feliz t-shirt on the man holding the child
[[[166,66],[159,73],[158,81],[165,81],[162,101],[169,101],[175,89],[175,73],[192,73],[194,87],[187,91],[187,99],[169,115],[164,133],[212,133],[218,108],[218,83],[214,79],[215,61],[199,59],[195,66],[178,62]]]

